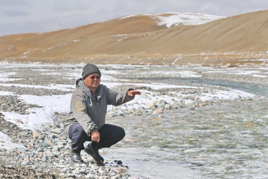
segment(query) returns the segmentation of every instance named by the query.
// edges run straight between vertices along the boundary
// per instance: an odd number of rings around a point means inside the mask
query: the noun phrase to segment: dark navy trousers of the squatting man
[[[99,143],[95,143],[96,147],[100,148],[109,148],[112,145],[118,143],[125,137],[125,130],[122,127],[118,127],[111,124],[105,124],[98,130],[100,133],[101,140]],[[69,128],[69,138],[72,140],[71,148],[75,151],[84,150],[84,142],[92,141],[91,136],[88,136],[85,133],[82,126],[76,122],[73,123]]]

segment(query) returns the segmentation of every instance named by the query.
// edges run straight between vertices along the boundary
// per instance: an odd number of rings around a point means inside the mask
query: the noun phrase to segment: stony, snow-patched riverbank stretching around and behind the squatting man
[[[153,67],[150,70],[157,71],[161,70],[161,68]],[[154,72],[148,73],[148,69],[143,67],[120,68],[119,70],[117,69],[117,73],[111,72],[111,70],[115,69],[105,67],[103,69],[102,82],[107,85],[111,85],[111,82],[114,82],[110,89],[121,91],[126,88],[135,88],[142,91],[142,95],[137,96],[133,102],[108,109],[107,117],[117,118],[118,116],[140,115],[150,116],[157,120],[161,118],[162,114],[172,109],[184,108],[195,110],[228,101],[265,99],[264,96],[255,96],[222,86],[166,81],[166,75],[176,79],[177,76],[172,74],[176,67],[163,68],[165,68],[163,71],[169,70],[170,74],[162,74],[159,79],[159,74],[157,75]],[[15,74],[14,71],[16,71]],[[112,161],[107,160],[100,166],[85,152],[81,152],[84,163],[73,163],[70,161],[70,139],[64,133],[64,122],[68,110],[59,112],[57,108],[51,109],[53,111],[53,115],[51,115],[53,123],[42,123],[42,128],[40,129],[20,127],[20,125],[27,123],[26,118],[24,118],[25,116],[33,115],[35,109],[47,108],[47,106],[38,104],[38,101],[36,104],[28,103],[27,100],[23,100],[23,95],[32,95],[31,98],[51,96],[55,98],[55,101],[49,102],[57,104],[57,100],[60,100],[57,95],[72,93],[72,90],[66,89],[72,89],[68,85],[73,86],[75,80],[80,77],[81,68],[76,70],[77,73],[72,74],[73,71],[75,71],[74,68],[47,68],[45,66],[38,69],[21,67],[14,70],[11,68],[1,68],[0,74],[12,73],[8,78],[5,78],[6,81],[2,81],[3,85],[0,85],[0,91],[12,93],[11,95],[2,94],[0,96],[0,134],[2,133],[3,135],[1,135],[10,142],[8,143],[4,138],[0,140],[0,175],[2,178],[132,178],[127,172],[131,170],[131,166],[124,165],[124,159],[114,158]],[[202,72],[198,71],[200,69],[194,69],[193,73],[196,75],[202,74]],[[33,73],[35,74],[34,78],[32,76]],[[51,75],[51,73],[55,74]],[[131,74],[131,76],[126,76],[126,74]],[[237,75],[232,79],[230,75],[225,74],[206,74],[201,79],[241,80],[241,76],[238,78]],[[15,80],[11,81],[13,80],[12,78]],[[16,80],[16,78],[23,79]],[[250,76],[247,79],[246,81],[250,83],[258,82],[263,84],[262,82],[266,82],[268,78]],[[262,79],[262,82],[259,79]],[[158,86],[152,87],[154,83]],[[161,86],[158,83],[165,83],[166,86]],[[40,86],[38,88],[22,87],[19,86],[20,84]],[[52,89],[51,84],[66,85],[65,90]],[[50,89],[44,88],[48,86]],[[68,105],[67,103],[65,104],[66,106]],[[7,117],[10,114],[24,115],[24,117],[21,120],[17,119],[16,116],[13,118]],[[46,117],[49,118],[49,116]],[[35,120],[38,119],[36,118]],[[132,139],[126,138],[121,142],[129,143],[132,142]],[[104,151],[100,151],[100,153],[102,152]]]

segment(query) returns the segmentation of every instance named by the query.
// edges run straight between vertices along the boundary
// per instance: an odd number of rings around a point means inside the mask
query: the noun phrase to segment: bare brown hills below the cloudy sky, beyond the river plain
[[[268,58],[267,17],[265,10],[167,28],[140,15],[54,32],[8,35],[0,37],[0,60],[236,64]]]

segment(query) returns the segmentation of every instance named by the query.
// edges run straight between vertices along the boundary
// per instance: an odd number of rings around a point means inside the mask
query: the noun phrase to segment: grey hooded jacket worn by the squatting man
[[[69,136],[69,128],[73,123],[79,122],[88,136],[105,124],[107,105],[118,106],[134,99],[129,97],[127,89],[117,93],[105,85],[99,85],[98,100],[95,101],[90,89],[85,85],[82,78],[77,79],[76,89],[71,99],[70,112],[64,123],[66,134]]]

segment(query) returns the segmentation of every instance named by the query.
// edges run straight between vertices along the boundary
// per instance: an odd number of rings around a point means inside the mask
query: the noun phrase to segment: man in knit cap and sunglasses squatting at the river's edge
[[[127,89],[117,93],[101,85],[101,72],[94,64],[83,67],[82,78],[77,79],[71,99],[69,115],[64,124],[65,132],[72,140],[71,159],[83,162],[81,150],[96,162],[103,162],[99,149],[111,147],[125,137],[123,128],[105,124],[107,105],[118,106],[140,95],[139,91]],[[84,147],[85,141],[92,141]]]

